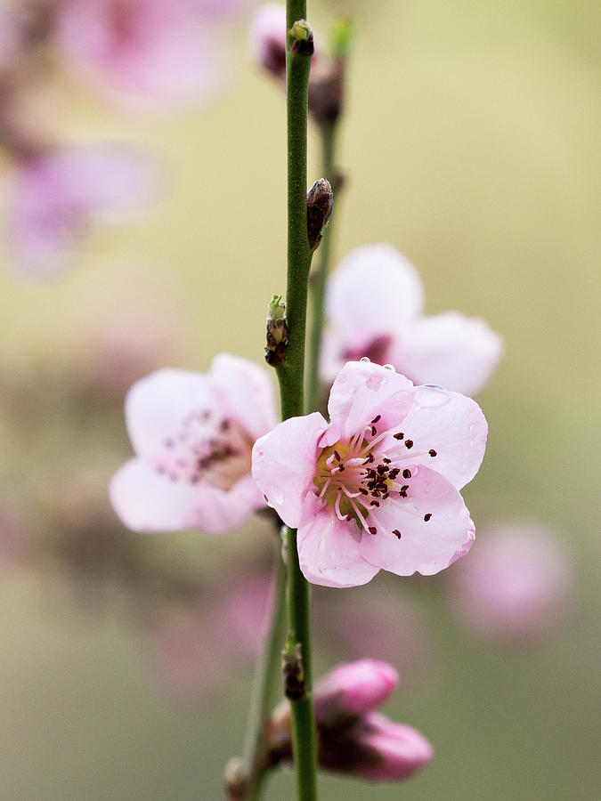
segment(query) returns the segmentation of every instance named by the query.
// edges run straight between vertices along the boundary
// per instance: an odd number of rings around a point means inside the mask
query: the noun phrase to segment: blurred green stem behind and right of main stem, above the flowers
[[[335,148],[337,122],[327,120],[320,125],[321,134],[321,175],[335,185]],[[311,276],[311,334],[309,341],[309,363],[307,368],[307,411],[318,411],[320,406],[320,359],[321,338],[323,336],[323,300],[326,291],[332,246],[332,217],[323,231],[319,247],[319,265]]]

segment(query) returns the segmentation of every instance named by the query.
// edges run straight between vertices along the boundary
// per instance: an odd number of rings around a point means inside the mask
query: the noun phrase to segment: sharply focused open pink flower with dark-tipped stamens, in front
[[[298,529],[305,578],[365,584],[390,570],[432,575],[475,536],[459,489],[480,466],[487,425],[469,398],[414,386],[392,368],[349,362],[315,412],[256,442],[253,475]]]

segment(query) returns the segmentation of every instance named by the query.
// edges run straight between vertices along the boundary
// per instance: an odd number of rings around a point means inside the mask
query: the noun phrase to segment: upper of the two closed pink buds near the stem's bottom
[[[315,716],[321,723],[330,716],[365,715],[390,698],[398,681],[394,667],[377,659],[338,665],[315,684]]]

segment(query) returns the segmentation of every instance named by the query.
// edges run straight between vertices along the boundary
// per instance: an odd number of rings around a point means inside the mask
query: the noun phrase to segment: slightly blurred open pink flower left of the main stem
[[[269,377],[245,359],[222,353],[207,375],[142,378],[126,397],[136,457],[113,476],[113,508],[134,531],[234,529],[265,506],[251,451],[275,422]]]

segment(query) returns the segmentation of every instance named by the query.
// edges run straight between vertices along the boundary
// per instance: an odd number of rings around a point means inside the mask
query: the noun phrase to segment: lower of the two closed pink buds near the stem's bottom
[[[363,759],[353,773],[370,781],[409,779],[434,754],[432,745],[417,729],[394,723],[377,712],[365,718],[358,740]],[[372,759],[366,764],[368,755]]]

